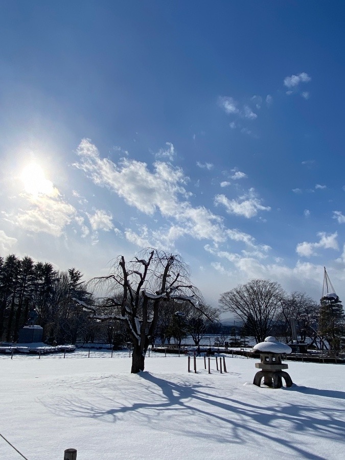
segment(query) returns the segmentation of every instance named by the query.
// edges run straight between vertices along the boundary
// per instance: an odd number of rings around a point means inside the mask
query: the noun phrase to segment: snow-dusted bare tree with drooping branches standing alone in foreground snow
[[[179,256],[152,248],[143,250],[128,264],[119,256],[112,273],[95,278],[93,283],[103,291],[108,289],[109,297],[103,308],[106,305],[117,307],[118,312],[102,315],[98,314],[97,306],[76,302],[90,311],[92,318],[123,321],[133,343],[132,373],[144,370],[145,354],[163,302],[183,301],[196,310],[203,308],[201,294],[190,283],[188,266]]]

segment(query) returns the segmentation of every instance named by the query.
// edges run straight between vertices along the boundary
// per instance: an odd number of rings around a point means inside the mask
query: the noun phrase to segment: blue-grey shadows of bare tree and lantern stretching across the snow
[[[44,405],[59,416],[77,415],[102,419],[105,422],[118,422],[126,415],[127,423],[128,417],[133,417],[135,423],[150,423],[151,430],[162,430],[164,426],[164,431],[175,434],[200,439],[210,436],[213,442],[221,444],[245,444],[250,448],[252,446],[252,449],[258,453],[261,449],[267,449],[267,443],[272,452],[273,444],[278,455],[282,454],[282,447],[284,447],[284,452],[288,449],[292,457],[310,460],[326,459],[316,455],[315,451],[308,452],[303,448],[301,438],[293,439],[294,432],[308,438],[308,442],[310,436],[317,437],[319,440],[341,442],[344,439],[345,404],[340,407],[339,405],[328,407],[324,404],[317,407],[298,404],[297,398],[288,403],[275,398],[279,396],[277,393],[279,390],[271,390],[273,393],[269,406],[267,397],[262,399],[264,404],[260,404],[258,392],[255,394],[258,403],[253,404],[225,395],[216,395],[212,393],[212,388],[199,383],[180,384],[161,379],[148,372],[141,372],[139,376],[141,379],[136,380],[136,383],[140,387],[124,386],[123,389],[114,387],[114,395],[111,397],[109,392],[105,396],[95,390],[90,395],[92,397],[87,399],[75,397],[71,400],[71,398],[56,396],[54,401]],[[292,387],[288,390],[307,395],[344,399],[344,393],[331,390],[306,387]],[[248,391],[251,391],[250,387]],[[253,399],[251,394],[250,400]],[[278,402],[274,405],[276,400]],[[181,415],[185,412],[188,413],[189,423],[181,423]]]

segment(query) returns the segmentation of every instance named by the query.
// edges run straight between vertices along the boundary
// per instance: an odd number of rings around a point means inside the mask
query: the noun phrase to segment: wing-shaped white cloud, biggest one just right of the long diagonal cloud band
[[[244,216],[247,219],[254,217],[258,211],[270,211],[269,206],[263,206],[257,198],[254,189],[249,189],[248,194],[238,197],[237,200],[229,200],[225,195],[216,195],[215,204],[222,204],[228,214]]]

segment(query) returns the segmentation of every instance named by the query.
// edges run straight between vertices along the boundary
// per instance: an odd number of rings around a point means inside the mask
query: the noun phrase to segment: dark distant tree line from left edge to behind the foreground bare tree
[[[113,280],[112,275],[104,277],[103,280],[95,279],[86,283],[82,280],[83,275],[77,268],[55,270],[52,264],[34,262],[29,256],[22,259],[13,254],[6,258],[0,257],[0,341],[16,342],[20,328],[28,324],[30,312],[35,310],[36,324],[43,328],[43,340],[47,343],[52,344],[55,341],[57,344],[76,343],[77,340],[85,343],[102,341],[112,344],[114,348],[128,341],[134,344],[131,336],[132,326],[126,327],[126,323],[121,320],[119,306],[125,302],[126,308],[130,309],[131,302],[134,304],[136,302],[132,318],[133,327],[136,320],[142,324],[144,299],[142,288],[148,288],[149,279],[151,284],[155,282],[154,280],[160,280],[162,273],[159,270],[166,263],[165,275],[169,281],[166,281],[165,284],[171,285],[174,266],[177,267],[177,271],[173,280],[177,278],[168,295],[169,298],[166,298],[163,303],[159,302],[148,343],[153,344],[157,339],[165,343],[169,342],[172,337],[180,341],[186,335],[191,335],[194,343],[199,344],[204,334],[210,331],[212,321],[217,319],[217,309],[203,306],[201,311],[193,307],[190,302],[192,297],[181,297],[182,291],[191,295],[192,289],[190,282],[186,280],[188,273],[185,264],[179,258],[176,257],[172,263],[169,258],[164,257],[164,253],[154,251],[154,256],[150,261],[151,266],[146,284],[139,283],[137,292],[131,291],[134,286],[133,280],[130,289],[127,287],[122,291],[117,290],[119,286],[124,287],[122,280],[120,284],[114,283],[114,289],[108,297],[100,298],[95,298],[90,290],[97,291],[101,281],[104,285],[109,280]],[[131,267],[128,273],[126,272],[127,282],[129,277],[137,277],[141,266],[145,268],[143,260],[135,263],[136,270],[133,271]],[[153,265],[155,265],[154,268]],[[115,270],[118,268],[122,270],[120,265],[114,266]],[[128,292],[131,295],[127,295]],[[195,292],[197,292],[196,289]],[[201,298],[199,292],[197,294],[198,298]],[[124,301],[126,295],[127,298]],[[150,322],[154,299],[149,297],[148,299],[146,314],[147,321]],[[93,305],[93,308],[97,310],[97,315],[103,319],[90,315],[90,311],[85,310],[83,305]],[[120,316],[120,319],[117,316]]]

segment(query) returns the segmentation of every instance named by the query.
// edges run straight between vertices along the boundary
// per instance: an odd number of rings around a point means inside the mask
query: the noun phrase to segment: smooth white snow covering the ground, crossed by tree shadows
[[[129,352],[0,355],[0,433],[28,460],[331,460],[345,448],[345,367],[288,362],[291,388],[252,385],[255,360],[188,373],[187,357]],[[0,438],[0,459],[22,456]]]

